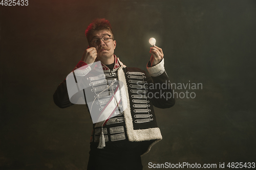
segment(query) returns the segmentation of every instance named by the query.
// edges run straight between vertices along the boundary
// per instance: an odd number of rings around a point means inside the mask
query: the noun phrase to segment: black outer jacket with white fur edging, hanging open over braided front
[[[84,65],[81,63],[83,62],[80,61],[75,68]],[[142,141],[144,143],[144,155],[150,151],[152,145],[162,139],[160,129],[157,126],[153,106],[157,108],[170,108],[174,106],[175,99],[172,85],[164,69],[164,59],[153,67],[150,67],[151,63],[148,62],[147,70],[150,75],[140,68],[126,67],[119,59],[118,63],[120,67],[113,69],[112,72],[115,72],[118,81],[123,83],[120,88],[120,93],[122,105],[126,106],[122,112],[125,136],[127,136],[129,141]],[[74,71],[76,71],[76,69],[73,70],[73,73]],[[94,70],[88,66],[86,69],[79,71],[88,76],[90,75],[90,71]],[[104,74],[109,74],[109,72],[109,70],[104,71]],[[80,91],[80,94],[77,93],[77,95],[82,97],[84,95],[84,89]],[[54,103],[60,108],[67,108],[75,103],[71,103],[69,98],[66,79],[57,87],[53,99]],[[118,126],[118,124],[112,126],[112,128],[115,126]],[[118,130],[120,130],[120,128]],[[95,133],[91,141],[95,141],[94,138]],[[114,139],[113,135],[113,140]]]

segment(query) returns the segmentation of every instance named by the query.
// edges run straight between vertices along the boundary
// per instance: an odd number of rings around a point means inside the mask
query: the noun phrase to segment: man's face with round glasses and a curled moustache
[[[114,50],[116,48],[116,41],[114,41],[113,39],[111,39],[109,42],[103,42],[102,39],[100,39],[102,36],[104,35],[112,35],[110,33],[109,30],[100,30],[100,31],[96,31],[94,32],[91,36],[90,36],[90,47],[95,47],[97,50],[97,59],[102,61],[102,60],[106,60],[106,59],[111,59],[112,57],[114,57]],[[96,45],[93,45],[91,43],[91,40],[94,38],[99,38],[99,42]]]

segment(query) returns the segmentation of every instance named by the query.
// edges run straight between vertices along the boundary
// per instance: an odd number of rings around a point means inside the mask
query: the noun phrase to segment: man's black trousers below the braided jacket
[[[98,143],[91,143],[87,170],[142,170],[141,148],[116,148],[106,145],[97,149]]]

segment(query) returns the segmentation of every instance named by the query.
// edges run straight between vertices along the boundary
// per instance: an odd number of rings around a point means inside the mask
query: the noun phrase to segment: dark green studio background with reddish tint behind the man
[[[0,169],[86,169],[90,115],[84,105],[58,108],[53,93],[82,58],[96,17],[110,20],[125,65],[146,69],[155,37],[173,83],[203,84],[176,90],[195,99],[156,108],[163,140],[142,157],[144,169],[256,162],[256,1],[29,0],[0,10]]]

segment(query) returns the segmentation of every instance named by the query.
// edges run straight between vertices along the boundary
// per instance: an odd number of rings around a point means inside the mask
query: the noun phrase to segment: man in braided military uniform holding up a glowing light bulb
[[[88,49],[58,86],[54,102],[66,108],[81,97],[87,104],[94,123],[88,169],[142,169],[140,156],[162,139],[153,105],[169,108],[175,104],[164,70],[163,51],[157,46],[150,48],[148,75],[139,68],[126,67],[114,55],[117,42],[108,20],[95,19],[88,26],[86,37]],[[67,85],[68,78],[73,85]],[[67,86],[73,86],[75,92]],[[99,120],[101,116],[104,118]]]

